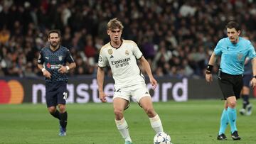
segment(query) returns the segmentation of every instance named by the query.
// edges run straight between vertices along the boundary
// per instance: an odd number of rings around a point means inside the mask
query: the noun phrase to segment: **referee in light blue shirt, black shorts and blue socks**
[[[240,97],[242,89],[242,73],[244,72],[245,58],[252,60],[252,71],[254,77],[251,80],[252,87],[256,85],[256,55],[255,48],[250,40],[240,37],[240,26],[235,21],[230,21],[226,25],[228,38],[218,41],[213,54],[210,57],[206,70],[206,81],[212,82],[211,70],[215,63],[215,57],[221,57],[218,74],[218,84],[225,100],[225,109],[220,118],[220,131],[218,140],[227,140],[225,128],[230,124],[231,137],[233,140],[240,140],[238,128],[236,127],[237,99]]]

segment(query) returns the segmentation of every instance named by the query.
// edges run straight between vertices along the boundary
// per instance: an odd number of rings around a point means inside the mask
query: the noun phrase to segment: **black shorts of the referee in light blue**
[[[235,96],[236,99],[240,98],[240,92],[243,85],[242,74],[232,75],[220,71],[218,75],[218,84],[225,100],[230,96]]]

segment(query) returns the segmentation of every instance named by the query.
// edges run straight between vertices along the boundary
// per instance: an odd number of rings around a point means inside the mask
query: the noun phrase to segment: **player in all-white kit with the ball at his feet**
[[[154,111],[151,96],[146,89],[145,78],[139,70],[137,60],[139,60],[149,76],[150,83],[155,89],[157,86],[149,62],[143,57],[136,43],[132,40],[121,38],[124,26],[117,18],[111,19],[107,23],[107,35],[110,35],[110,43],[104,45],[100,50],[97,84],[99,87],[100,100],[106,102],[106,94],[103,91],[105,77],[104,67],[110,65],[114,78],[113,106],[115,123],[117,129],[124,138],[124,144],[131,144],[127,122],[124,118],[124,109],[129,107],[130,98],[134,98],[149,116],[151,127],[156,133],[163,131],[161,120]]]

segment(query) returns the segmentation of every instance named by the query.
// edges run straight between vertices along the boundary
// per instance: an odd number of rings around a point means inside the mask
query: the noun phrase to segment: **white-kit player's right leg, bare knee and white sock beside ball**
[[[139,105],[142,106],[146,114],[149,116],[149,121],[154,131],[156,133],[163,132],[164,128],[162,126],[161,119],[159,118],[156,111],[154,111],[151,97],[150,96],[142,97],[142,99],[139,100]]]

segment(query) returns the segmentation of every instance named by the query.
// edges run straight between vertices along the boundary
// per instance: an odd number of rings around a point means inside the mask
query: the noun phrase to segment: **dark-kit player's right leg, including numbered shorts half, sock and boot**
[[[65,136],[66,135],[66,127],[68,123],[68,112],[66,111],[66,106],[65,106],[65,99],[68,97],[67,93],[67,84],[65,82],[59,82],[58,84],[58,109],[60,111],[60,136]]]

